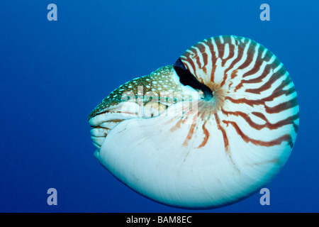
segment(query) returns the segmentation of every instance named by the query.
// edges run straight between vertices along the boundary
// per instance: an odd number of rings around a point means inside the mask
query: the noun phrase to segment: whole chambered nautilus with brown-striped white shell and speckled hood
[[[103,167],[135,192],[184,209],[233,204],[268,184],[291,154],[298,123],[284,65],[235,35],[196,43],[89,115]]]

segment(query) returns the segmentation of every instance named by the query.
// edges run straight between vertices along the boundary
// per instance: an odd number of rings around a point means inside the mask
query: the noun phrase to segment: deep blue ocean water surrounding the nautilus
[[[57,21],[47,20],[48,4]],[[270,21],[261,21],[261,4]],[[254,194],[196,212],[318,212],[318,1],[0,1],[0,212],[186,212],[118,182],[93,156],[89,113],[113,89],[216,35],[284,63],[300,127],[283,170]],[[57,206],[47,189],[57,189]]]

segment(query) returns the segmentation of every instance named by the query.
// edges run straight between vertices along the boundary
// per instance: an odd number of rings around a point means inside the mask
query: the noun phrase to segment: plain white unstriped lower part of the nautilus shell
[[[247,145],[237,133],[230,140],[230,153],[225,153],[220,142],[223,135],[213,122],[207,126],[213,136],[206,146],[196,148],[203,137],[201,131],[185,146],[183,138],[191,125],[185,123],[171,131],[177,121],[169,123],[167,117],[123,121],[103,143],[99,152],[101,164],[150,199],[170,206],[203,209],[229,204],[255,192],[279,172],[290,154],[289,148],[286,155],[274,148],[269,155],[267,148]],[[160,128],[154,127],[158,124]],[[112,143],[113,140],[125,143]]]

